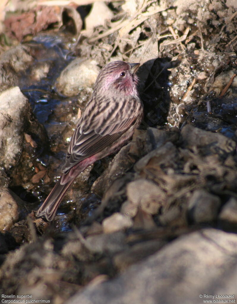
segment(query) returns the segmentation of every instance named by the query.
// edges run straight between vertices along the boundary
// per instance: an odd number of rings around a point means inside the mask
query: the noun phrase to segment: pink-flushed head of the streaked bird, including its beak
[[[100,73],[104,92],[110,90],[114,94],[124,93],[125,95],[137,96],[138,77],[135,72],[138,67],[139,64],[128,64],[124,61],[114,61],[107,64]]]

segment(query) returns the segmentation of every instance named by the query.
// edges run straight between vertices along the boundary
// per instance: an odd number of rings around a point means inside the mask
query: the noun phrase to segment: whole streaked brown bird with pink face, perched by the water
[[[118,150],[140,125],[143,104],[136,88],[138,67],[138,63],[113,61],[101,69],[91,100],[71,138],[62,176],[36,216],[45,216],[51,221],[77,175],[90,164]]]

